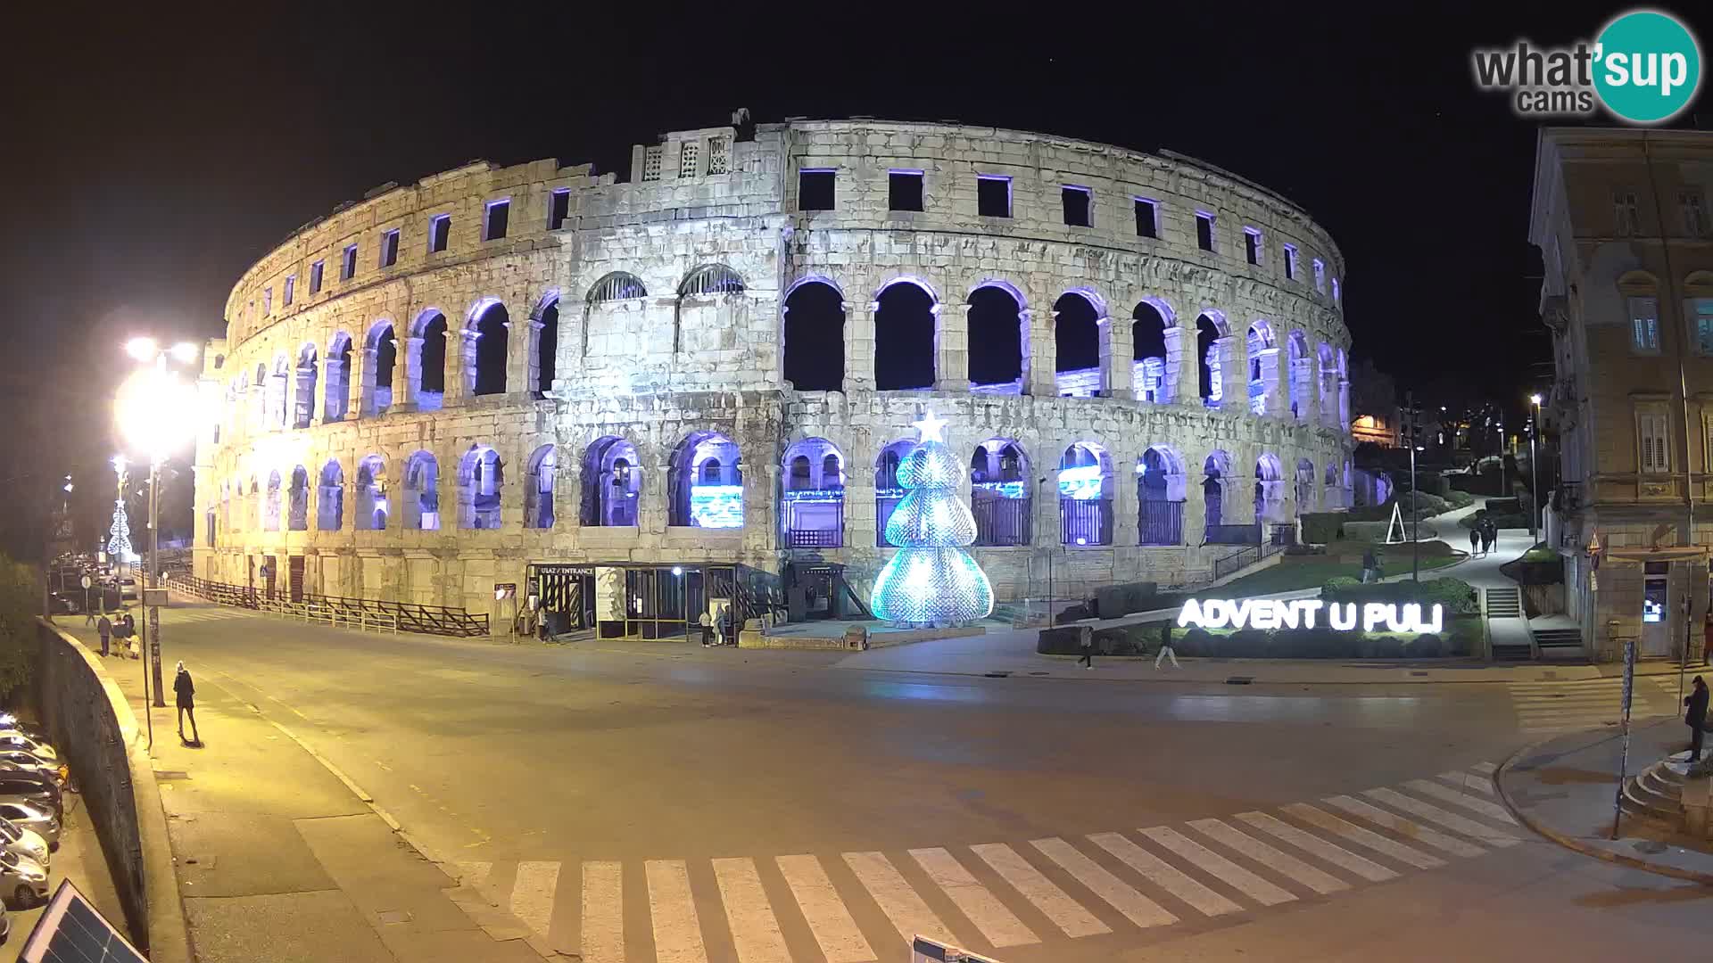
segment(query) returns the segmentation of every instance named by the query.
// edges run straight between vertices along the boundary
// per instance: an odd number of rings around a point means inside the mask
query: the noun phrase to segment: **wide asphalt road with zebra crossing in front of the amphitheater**
[[[1480,807],[1483,764],[1530,740],[1506,685],[937,677],[164,620],[168,660],[289,725],[591,963],[901,960],[904,929],[1007,963],[1610,960],[1713,939],[1708,891]],[[1422,804],[1465,824],[1424,834]]]

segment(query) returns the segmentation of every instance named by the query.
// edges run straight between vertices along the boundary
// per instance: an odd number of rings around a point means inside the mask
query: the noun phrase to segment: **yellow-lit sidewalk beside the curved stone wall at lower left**
[[[144,665],[106,663],[146,725]],[[524,934],[471,922],[449,896],[457,881],[240,687],[197,677],[197,749],[166,703],[152,757],[199,963],[540,963]]]

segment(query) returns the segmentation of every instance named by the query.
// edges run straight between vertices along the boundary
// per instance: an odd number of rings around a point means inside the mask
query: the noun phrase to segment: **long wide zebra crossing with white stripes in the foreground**
[[[456,867],[463,886],[586,963],[868,963],[899,958],[915,936],[1004,953],[1244,918],[1514,846],[1494,771],[1079,838]]]

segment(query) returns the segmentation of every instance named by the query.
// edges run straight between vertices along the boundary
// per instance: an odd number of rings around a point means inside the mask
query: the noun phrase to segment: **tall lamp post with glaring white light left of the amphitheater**
[[[192,427],[197,423],[195,389],[170,372],[166,362],[171,358],[190,363],[197,356],[197,346],[188,341],[163,348],[152,338],[132,338],[125,343],[125,353],[142,362],[128,379],[118,387],[115,399],[115,416],[125,444],[149,458],[149,560],[147,579],[139,595],[147,608],[149,637],[149,672],[154,685],[154,708],[164,708],[166,697],[161,682],[161,608],[151,589],[159,589],[159,482],[161,463],[175,449],[190,440]],[[146,685],[147,689],[147,685]],[[152,720],[151,720],[152,742]]]

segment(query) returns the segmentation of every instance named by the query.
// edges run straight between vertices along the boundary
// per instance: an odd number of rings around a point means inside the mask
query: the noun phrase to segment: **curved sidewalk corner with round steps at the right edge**
[[[1629,775],[1672,752],[1682,754],[1687,737],[1689,730],[1675,718],[1631,728]],[[1525,826],[1562,846],[1713,886],[1708,840],[1692,841],[1629,814],[1619,822],[1619,838],[1610,838],[1622,742],[1610,728],[1537,742],[1499,768],[1499,793]]]

